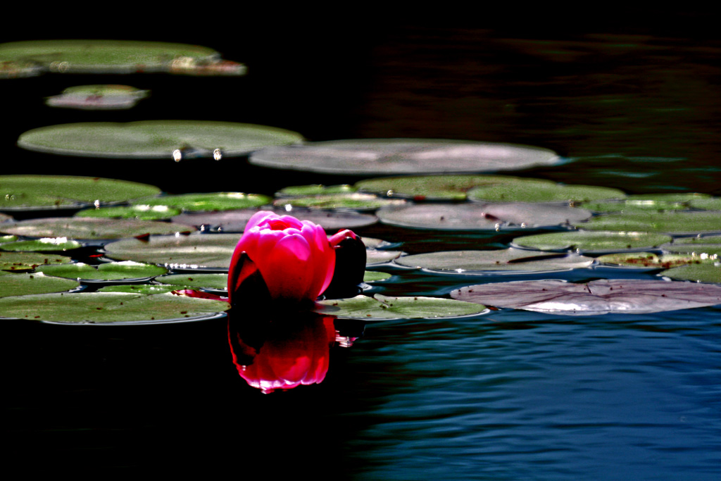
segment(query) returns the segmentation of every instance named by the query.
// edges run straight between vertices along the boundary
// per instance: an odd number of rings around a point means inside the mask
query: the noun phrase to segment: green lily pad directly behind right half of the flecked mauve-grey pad
[[[591,200],[622,198],[624,193],[609,187],[593,185],[564,185],[549,180],[512,179],[496,185],[484,185],[469,190],[472,200],[496,202],[590,202]]]

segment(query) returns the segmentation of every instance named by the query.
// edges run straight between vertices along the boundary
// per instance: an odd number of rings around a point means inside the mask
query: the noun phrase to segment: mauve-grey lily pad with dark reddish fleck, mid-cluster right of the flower
[[[415,229],[500,230],[559,226],[591,213],[568,206],[541,203],[432,204],[382,208],[384,224]]]

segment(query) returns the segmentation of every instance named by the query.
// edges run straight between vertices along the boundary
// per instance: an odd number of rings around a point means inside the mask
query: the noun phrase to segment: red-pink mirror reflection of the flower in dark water
[[[248,326],[246,322],[242,325]],[[229,323],[233,362],[249,385],[267,394],[275,389],[293,389],[325,379],[329,348],[335,340],[333,317],[315,317],[291,325],[270,322],[266,327],[267,331],[261,335],[262,345],[254,348],[245,343],[241,332]],[[258,333],[245,335],[252,338]]]

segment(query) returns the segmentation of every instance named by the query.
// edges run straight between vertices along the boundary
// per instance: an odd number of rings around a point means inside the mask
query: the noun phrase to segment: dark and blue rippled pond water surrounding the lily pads
[[[263,41],[260,29],[220,38],[186,32],[162,40],[212,46],[246,61],[252,75],[104,78],[153,90],[119,114],[43,107],[40,97],[97,83],[92,77],[4,81],[2,100],[15,112],[2,136],[4,172],[132,178],[174,192],[273,192],[297,183],[280,172],[229,172],[222,162],[154,167],[13,147],[19,133],[40,125],[198,118],[276,125],[312,140],[531,144],[568,162],[522,175],[628,193],[721,195],[721,41],[681,20],[670,29],[604,30],[596,22],[588,32],[336,28],[334,41],[300,27]],[[289,54],[288,45],[304,54]],[[510,242],[381,227],[361,233],[406,241],[409,252]],[[478,281],[387,270],[397,278],[379,291],[392,295],[442,295]],[[332,349],[322,384],[268,395],[238,376],[224,319],[142,328],[4,322],[3,330],[6,457],[31,470],[202,467],[349,480],[721,474],[719,306],[374,322],[352,347]]]

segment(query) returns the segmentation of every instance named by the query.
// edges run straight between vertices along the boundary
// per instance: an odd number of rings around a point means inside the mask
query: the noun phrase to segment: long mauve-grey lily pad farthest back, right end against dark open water
[[[547,149],[475,141],[367,138],[270,147],[252,164],[327,174],[495,172],[559,162]]]

